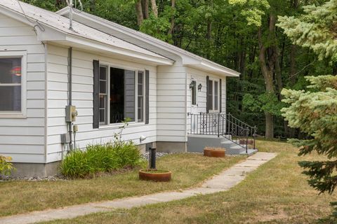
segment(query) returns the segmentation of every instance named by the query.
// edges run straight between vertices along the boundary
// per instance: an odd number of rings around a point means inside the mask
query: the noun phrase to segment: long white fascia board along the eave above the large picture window
[[[151,55],[145,55],[140,52],[135,52],[132,50],[127,50],[124,48],[117,48],[112,45],[107,45],[105,43],[100,43],[98,41],[92,41],[86,38],[81,38],[79,36],[67,35],[65,41],[74,43],[75,45],[83,45],[87,48],[103,50],[105,52],[110,52],[111,55],[123,55],[126,57],[131,57],[135,59],[140,59],[142,61],[152,62],[152,64],[157,65],[172,65],[174,62],[171,59],[153,57]]]

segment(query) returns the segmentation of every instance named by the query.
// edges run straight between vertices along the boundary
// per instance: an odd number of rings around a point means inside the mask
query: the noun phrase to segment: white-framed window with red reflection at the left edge
[[[0,116],[25,115],[25,52],[0,52]]]

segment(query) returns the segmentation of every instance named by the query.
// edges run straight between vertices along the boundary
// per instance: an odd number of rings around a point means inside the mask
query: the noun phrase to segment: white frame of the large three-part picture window
[[[100,123],[100,127],[107,128],[107,127],[114,127],[119,126],[123,123],[110,123],[110,68],[114,69],[124,69],[128,71],[134,71],[135,72],[135,120],[128,122],[128,124],[132,125],[145,125],[145,69],[130,67],[130,66],[120,66],[117,64],[112,64],[109,62],[100,62],[100,66],[107,66],[107,118],[106,123]],[[138,121],[138,71],[143,72],[143,120]],[[125,94],[125,92],[124,92]]]

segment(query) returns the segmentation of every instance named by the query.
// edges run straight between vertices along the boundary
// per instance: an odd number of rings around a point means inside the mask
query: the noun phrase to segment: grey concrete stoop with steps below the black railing
[[[227,155],[253,155],[258,152],[257,149],[246,148],[235,144],[225,137],[217,135],[189,135],[187,137],[187,152],[203,153],[205,147],[220,147],[226,149]]]

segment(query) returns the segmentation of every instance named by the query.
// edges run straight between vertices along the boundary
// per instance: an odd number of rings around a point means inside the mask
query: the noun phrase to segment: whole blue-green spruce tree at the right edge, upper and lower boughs
[[[294,44],[311,48],[319,59],[337,62],[337,0],[322,6],[305,6],[300,18],[280,17],[279,27]],[[320,193],[333,193],[337,186],[337,76],[307,76],[311,85],[307,90],[282,91],[284,102],[290,106],[282,109],[290,127],[308,134],[308,139],[290,139],[300,148],[299,155],[313,151],[326,155],[326,161],[302,161],[300,167],[310,176],[308,183]],[[331,203],[336,206],[337,203]],[[334,216],[337,217],[337,209]]]

